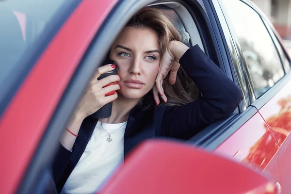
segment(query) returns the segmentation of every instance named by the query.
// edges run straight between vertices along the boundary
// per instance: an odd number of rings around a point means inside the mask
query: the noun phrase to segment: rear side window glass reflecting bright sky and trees
[[[284,76],[284,70],[261,17],[240,0],[223,0],[231,25],[242,45],[256,98]]]

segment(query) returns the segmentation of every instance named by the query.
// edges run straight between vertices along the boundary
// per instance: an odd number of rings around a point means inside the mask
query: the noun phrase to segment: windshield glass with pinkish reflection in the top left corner
[[[0,0],[0,85],[65,0]],[[41,38],[41,37],[40,37]]]

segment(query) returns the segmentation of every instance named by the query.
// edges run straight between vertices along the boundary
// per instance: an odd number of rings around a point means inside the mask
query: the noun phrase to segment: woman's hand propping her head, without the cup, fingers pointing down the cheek
[[[177,72],[180,67],[179,60],[182,55],[189,49],[186,45],[180,41],[171,41],[169,48],[165,51],[162,57],[160,69],[156,78],[156,84],[153,88],[153,96],[156,104],[160,104],[159,94],[163,102],[167,102],[167,97],[164,94],[162,88],[163,79],[169,75],[169,83],[174,85],[177,78]]]

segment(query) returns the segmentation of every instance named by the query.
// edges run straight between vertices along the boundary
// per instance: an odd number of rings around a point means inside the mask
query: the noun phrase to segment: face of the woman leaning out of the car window
[[[126,98],[138,99],[154,86],[160,66],[158,39],[148,29],[126,27],[113,43],[110,59],[118,65],[120,90]]]

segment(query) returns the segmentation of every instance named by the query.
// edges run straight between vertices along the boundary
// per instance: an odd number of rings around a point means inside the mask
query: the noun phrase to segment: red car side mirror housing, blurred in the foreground
[[[98,194],[277,194],[274,183],[214,153],[151,140],[130,154]]]

